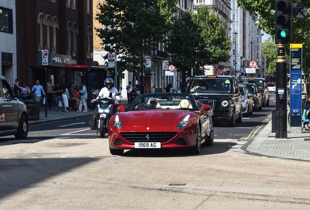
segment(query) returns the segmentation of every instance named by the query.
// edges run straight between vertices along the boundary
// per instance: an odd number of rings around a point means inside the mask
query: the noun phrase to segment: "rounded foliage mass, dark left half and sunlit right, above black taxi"
[[[174,20],[169,41],[170,63],[178,71],[187,72],[187,76],[191,69],[194,75],[200,74],[204,65],[226,62],[230,58],[231,40],[219,15],[207,6],[198,7],[196,13],[181,13]]]

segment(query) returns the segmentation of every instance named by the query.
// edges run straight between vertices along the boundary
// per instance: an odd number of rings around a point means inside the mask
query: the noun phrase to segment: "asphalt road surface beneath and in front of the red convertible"
[[[86,119],[31,126],[27,140],[0,141],[0,209],[308,210],[309,162],[232,147],[253,139],[273,105],[234,128],[215,127],[213,147],[195,156],[174,150],[112,156],[107,138],[85,130]],[[70,135],[76,131],[87,135]]]

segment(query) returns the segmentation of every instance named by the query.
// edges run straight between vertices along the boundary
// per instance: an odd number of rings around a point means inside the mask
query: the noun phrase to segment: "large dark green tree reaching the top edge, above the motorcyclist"
[[[117,70],[141,72],[143,53],[156,50],[172,27],[177,0],[106,0],[98,4],[95,28],[104,49],[118,50]],[[107,56],[105,57],[107,59]]]

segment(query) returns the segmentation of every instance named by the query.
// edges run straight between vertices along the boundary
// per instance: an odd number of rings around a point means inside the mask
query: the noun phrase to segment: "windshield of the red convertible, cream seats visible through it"
[[[128,108],[141,109],[196,109],[193,96],[182,93],[151,93],[139,95]]]

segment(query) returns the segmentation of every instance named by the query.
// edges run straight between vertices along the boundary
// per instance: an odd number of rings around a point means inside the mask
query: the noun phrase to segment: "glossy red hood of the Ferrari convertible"
[[[174,123],[179,123],[184,117],[193,111],[189,110],[139,110],[120,112],[119,120],[123,126],[174,126]]]

